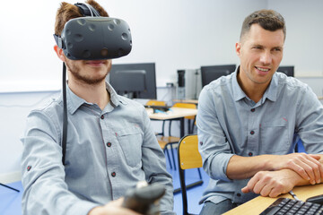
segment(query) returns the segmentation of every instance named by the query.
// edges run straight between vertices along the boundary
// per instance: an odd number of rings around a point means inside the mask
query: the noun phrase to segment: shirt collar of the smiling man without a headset
[[[243,98],[248,98],[246,93],[241,89],[239,83],[238,83],[238,73],[240,72],[240,66],[236,68],[236,71],[232,74],[232,90],[233,90],[233,98],[235,101],[238,101]],[[273,78],[266,89],[264,96],[263,96],[263,101],[266,99],[275,101],[277,99],[277,91],[278,91],[278,77],[277,74],[274,73]]]

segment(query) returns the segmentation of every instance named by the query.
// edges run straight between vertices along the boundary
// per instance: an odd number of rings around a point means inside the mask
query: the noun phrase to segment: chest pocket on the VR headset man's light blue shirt
[[[127,164],[135,167],[141,164],[143,133],[137,126],[118,130],[118,142],[125,155]]]

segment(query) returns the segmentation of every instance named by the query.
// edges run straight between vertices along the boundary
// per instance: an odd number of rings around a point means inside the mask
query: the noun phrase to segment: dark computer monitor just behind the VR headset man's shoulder
[[[108,82],[129,99],[157,99],[154,63],[112,64]]]

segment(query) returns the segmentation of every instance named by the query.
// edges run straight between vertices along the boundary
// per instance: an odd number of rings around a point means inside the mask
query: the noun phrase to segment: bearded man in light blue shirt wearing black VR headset
[[[95,1],[87,3],[108,17]],[[57,10],[56,37],[66,22],[78,17],[83,14],[77,5],[62,3]],[[83,25],[82,20],[77,22]],[[93,29],[95,25],[90,25]],[[105,82],[110,59],[73,60],[62,48],[71,44],[60,41],[59,46],[55,51],[68,73],[66,100],[63,93],[28,116],[22,138],[22,213],[137,214],[122,208],[118,199],[138,181],[147,181],[165,185],[161,214],[173,214],[171,176],[144,107],[118,96]],[[64,104],[68,116],[65,151],[61,143]]]

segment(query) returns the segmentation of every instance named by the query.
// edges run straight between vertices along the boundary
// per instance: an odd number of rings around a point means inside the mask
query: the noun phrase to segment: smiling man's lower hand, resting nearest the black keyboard
[[[278,171],[260,171],[251,177],[248,184],[241,189],[242,193],[259,193],[262,196],[276,197],[288,193],[302,180],[301,176],[290,169]]]

